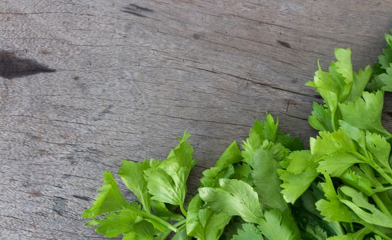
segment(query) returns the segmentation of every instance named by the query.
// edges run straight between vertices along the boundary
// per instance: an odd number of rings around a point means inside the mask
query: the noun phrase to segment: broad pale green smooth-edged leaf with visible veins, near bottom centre
[[[245,221],[257,223],[263,217],[262,207],[254,189],[246,182],[221,178],[220,188],[202,187],[200,197],[213,211],[238,215]]]

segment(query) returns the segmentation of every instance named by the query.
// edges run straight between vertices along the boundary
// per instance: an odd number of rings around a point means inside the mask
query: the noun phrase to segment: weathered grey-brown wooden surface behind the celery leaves
[[[191,192],[266,110],[308,141],[316,60],[372,64],[391,27],[391,0],[0,1],[0,239],[100,238],[80,214],[102,171],[183,130]]]

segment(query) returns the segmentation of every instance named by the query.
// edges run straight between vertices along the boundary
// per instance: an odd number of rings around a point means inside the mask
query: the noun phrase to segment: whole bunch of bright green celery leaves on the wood
[[[267,115],[241,148],[233,141],[203,171],[186,201],[196,164],[185,132],[165,160],[123,160],[82,217],[105,237],[123,240],[392,240],[392,134],[381,122],[392,91],[392,36],[373,69],[353,71],[350,49],[335,49],[328,71],[308,82],[323,97],[308,121],[319,130],[303,149]],[[365,91],[366,90],[366,91]]]

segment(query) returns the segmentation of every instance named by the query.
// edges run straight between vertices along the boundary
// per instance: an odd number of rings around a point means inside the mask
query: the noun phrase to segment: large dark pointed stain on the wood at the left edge
[[[49,69],[36,60],[19,58],[10,51],[0,50],[0,76],[7,79],[33,75],[37,73],[53,73],[55,69]]]

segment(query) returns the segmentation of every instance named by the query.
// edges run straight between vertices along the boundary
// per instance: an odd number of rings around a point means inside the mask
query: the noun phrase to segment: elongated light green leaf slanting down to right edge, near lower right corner
[[[358,192],[351,187],[343,186],[339,189],[338,197],[343,204],[351,208],[363,221],[369,224],[392,228],[392,218],[382,213],[373,204],[370,204],[362,192]]]

